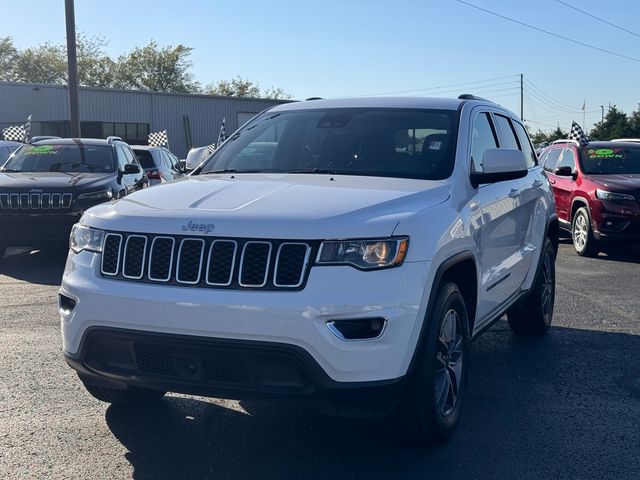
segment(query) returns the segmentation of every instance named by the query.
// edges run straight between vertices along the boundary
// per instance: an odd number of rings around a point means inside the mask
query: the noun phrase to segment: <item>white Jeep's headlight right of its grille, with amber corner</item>
[[[318,265],[352,265],[371,270],[402,264],[407,256],[409,239],[397,237],[372,240],[328,240],[322,242]]]

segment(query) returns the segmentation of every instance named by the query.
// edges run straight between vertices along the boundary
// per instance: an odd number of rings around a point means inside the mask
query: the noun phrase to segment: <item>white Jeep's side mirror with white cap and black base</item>
[[[527,170],[527,160],[520,150],[490,148],[482,155],[482,172],[471,174],[471,185],[477,188],[485,183],[523,178],[527,176]]]

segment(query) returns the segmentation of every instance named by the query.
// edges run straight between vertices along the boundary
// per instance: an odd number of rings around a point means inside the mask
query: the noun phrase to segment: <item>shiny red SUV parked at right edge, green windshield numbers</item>
[[[558,140],[540,163],[578,255],[597,255],[603,242],[640,244],[640,142]]]

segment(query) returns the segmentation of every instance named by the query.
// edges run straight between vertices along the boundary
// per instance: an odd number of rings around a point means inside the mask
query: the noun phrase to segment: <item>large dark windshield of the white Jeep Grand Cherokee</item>
[[[457,112],[313,109],[266,112],[233,135],[201,174],[331,173],[444,179],[453,170]]]

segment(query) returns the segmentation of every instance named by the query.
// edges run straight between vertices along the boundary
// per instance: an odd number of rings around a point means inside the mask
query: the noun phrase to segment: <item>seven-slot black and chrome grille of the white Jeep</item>
[[[300,289],[317,242],[105,235],[104,277],[227,289]]]

